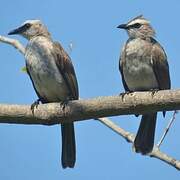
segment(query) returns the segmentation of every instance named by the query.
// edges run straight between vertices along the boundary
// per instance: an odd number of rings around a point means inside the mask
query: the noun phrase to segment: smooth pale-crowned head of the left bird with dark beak
[[[40,20],[27,20],[8,35],[18,34],[30,40],[35,36],[50,36],[46,26]]]

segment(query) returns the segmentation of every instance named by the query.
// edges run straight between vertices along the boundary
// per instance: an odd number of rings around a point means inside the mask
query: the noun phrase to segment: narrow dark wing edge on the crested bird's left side
[[[121,51],[121,55],[120,55],[120,58],[119,58],[119,71],[121,73],[122,83],[123,83],[125,91],[129,91],[129,88],[128,88],[127,84],[126,84],[126,81],[124,79],[124,74],[123,74],[123,66],[124,66],[125,58],[126,58],[125,49],[126,49],[127,43],[123,46],[122,51]]]

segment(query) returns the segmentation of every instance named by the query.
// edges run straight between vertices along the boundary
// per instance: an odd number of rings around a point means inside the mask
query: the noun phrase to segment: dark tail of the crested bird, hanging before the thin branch
[[[154,146],[156,118],[157,113],[145,114],[142,116],[141,123],[134,140],[134,148],[136,152],[147,154],[152,151]]]

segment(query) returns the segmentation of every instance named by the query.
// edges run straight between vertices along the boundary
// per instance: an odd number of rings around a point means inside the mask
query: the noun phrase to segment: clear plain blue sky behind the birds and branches
[[[1,0],[0,35],[27,19],[41,19],[70,53],[81,98],[117,95],[123,92],[118,71],[120,49],[127,34],[116,27],[143,14],[156,29],[156,39],[168,55],[172,88],[179,88],[180,1],[171,0]],[[21,37],[14,36],[24,45]],[[29,77],[21,72],[24,57],[0,43],[0,103],[31,104],[37,99]],[[158,115],[156,142],[172,112]],[[139,118],[111,118],[136,133]],[[180,159],[180,115],[176,117],[161,150]],[[179,172],[154,158],[132,151],[119,135],[95,120],[77,122],[77,161],[74,169],[60,164],[60,126],[0,124],[0,179],[5,180],[96,180],[96,179],[179,179]]]

